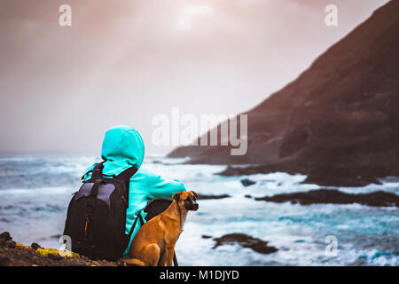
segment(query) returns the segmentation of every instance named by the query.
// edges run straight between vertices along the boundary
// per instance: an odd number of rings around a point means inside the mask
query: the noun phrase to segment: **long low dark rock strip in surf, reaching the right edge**
[[[257,201],[300,203],[301,205],[317,203],[351,204],[359,203],[368,206],[399,206],[399,196],[395,193],[378,191],[374,193],[343,193],[337,189],[318,189],[303,193],[282,193],[273,196],[255,198]]]

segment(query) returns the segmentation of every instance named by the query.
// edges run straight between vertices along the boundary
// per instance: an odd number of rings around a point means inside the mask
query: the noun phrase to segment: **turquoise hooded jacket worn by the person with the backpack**
[[[176,179],[164,179],[160,175],[140,168],[145,156],[145,145],[140,133],[129,126],[116,126],[106,131],[101,148],[101,158],[104,161],[103,174],[118,175],[123,170],[132,166],[137,167],[136,174],[130,178],[129,184],[129,208],[126,212],[126,233],[129,233],[134,220],[141,214],[143,219],[146,213],[143,212],[147,201],[153,199],[165,199],[172,201],[172,195],[186,191],[182,182]],[[93,164],[85,171],[84,180],[91,177],[90,170]],[[131,235],[129,246],[123,255],[127,256],[130,243],[140,228],[140,222]]]

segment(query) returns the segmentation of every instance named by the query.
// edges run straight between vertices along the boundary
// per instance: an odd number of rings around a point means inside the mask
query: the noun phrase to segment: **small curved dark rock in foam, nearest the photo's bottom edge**
[[[244,233],[225,234],[220,238],[214,238],[214,241],[216,241],[214,248],[217,248],[224,244],[237,243],[243,248],[251,248],[254,251],[263,255],[271,254],[278,251],[278,248],[268,246],[267,241],[262,241],[260,239],[253,238]]]

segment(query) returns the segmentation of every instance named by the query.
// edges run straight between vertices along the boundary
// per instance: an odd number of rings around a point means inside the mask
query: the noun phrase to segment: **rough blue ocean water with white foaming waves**
[[[0,233],[13,240],[59,248],[66,207],[79,189],[82,173],[94,156],[14,154],[0,156]],[[180,265],[399,265],[399,210],[360,204],[299,205],[255,201],[277,193],[320,188],[301,184],[306,176],[282,172],[242,177],[215,175],[225,166],[188,165],[182,159],[146,155],[142,167],[177,178],[187,189],[202,194],[229,194],[219,200],[200,200],[190,212],[176,244]],[[243,186],[243,178],[256,181]],[[399,194],[399,179],[381,179],[382,185],[339,187],[348,193],[384,190]],[[325,188],[325,186],[323,187]],[[278,251],[262,255],[238,244],[213,248],[212,238],[245,233],[268,241]],[[325,252],[327,236],[337,240],[336,254]],[[189,249],[187,249],[189,248]]]

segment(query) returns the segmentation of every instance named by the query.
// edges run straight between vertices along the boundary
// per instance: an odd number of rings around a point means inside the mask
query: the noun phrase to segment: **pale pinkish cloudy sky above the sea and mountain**
[[[107,128],[128,124],[165,153],[154,115],[252,108],[385,3],[2,0],[0,152],[98,153]],[[325,26],[327,4],[338,27]]]

